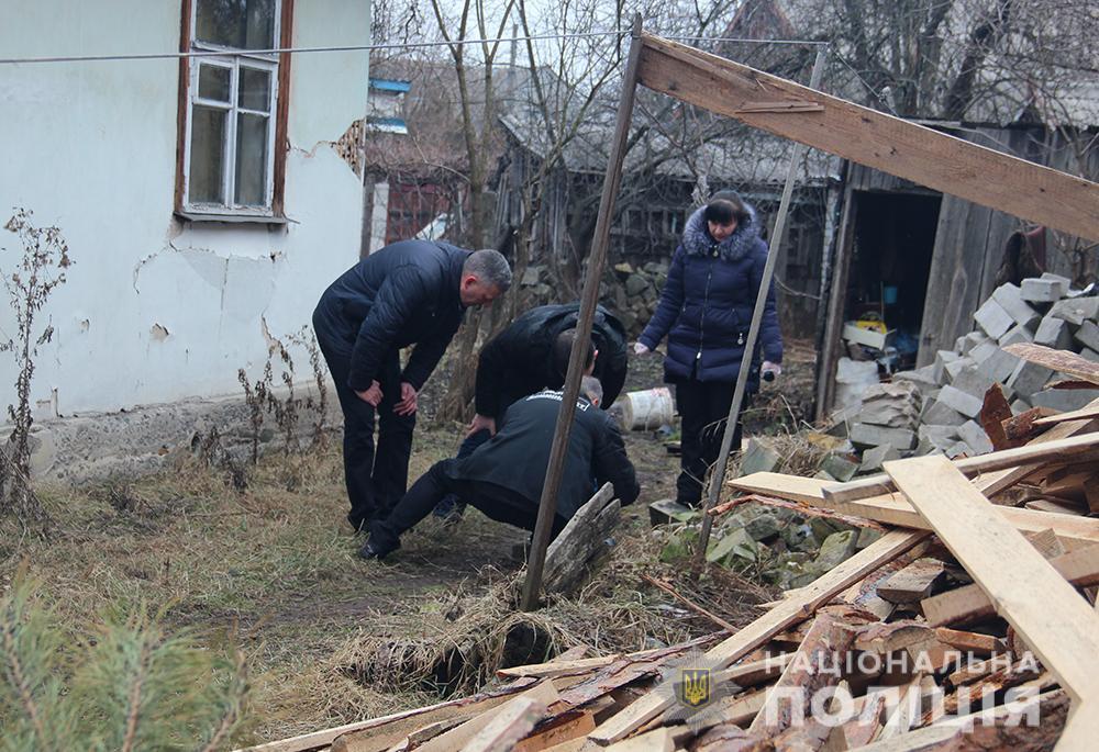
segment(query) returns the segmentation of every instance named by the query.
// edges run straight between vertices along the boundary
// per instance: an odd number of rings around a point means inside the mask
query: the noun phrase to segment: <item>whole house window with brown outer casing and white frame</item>
[[[186,125],[177,203],[189,216],[281,213],[277,144],[286,108],[279,106],[279,72],[289,61],[247,50],[287,46],[282,7],[290,1],[190,0],[186,49],[241,53],[188,58],[181,74]]]

